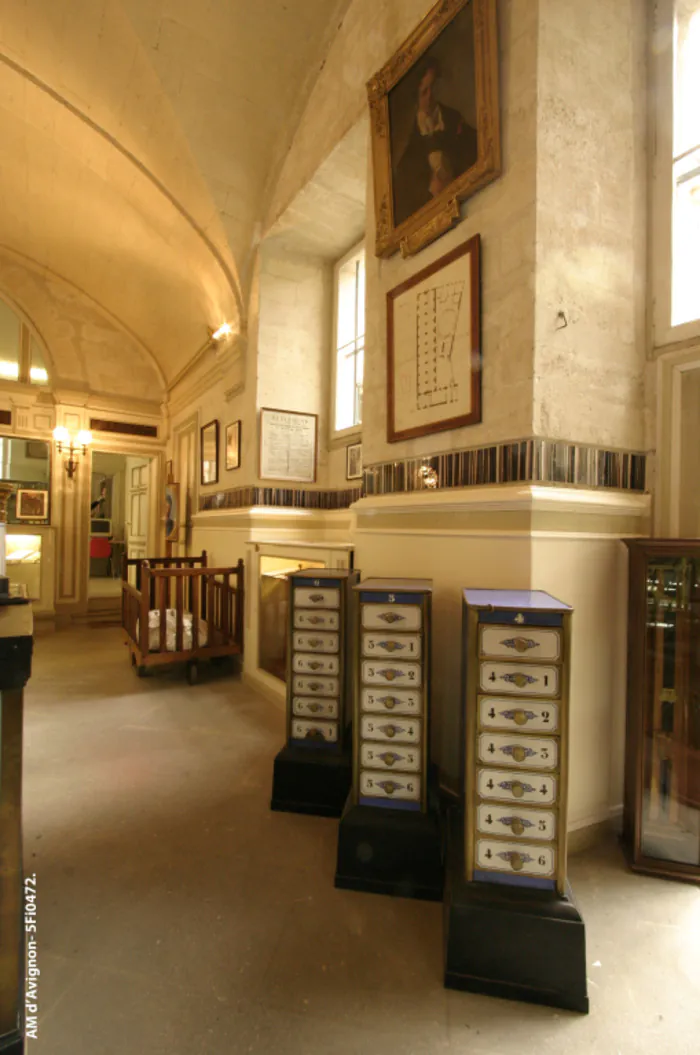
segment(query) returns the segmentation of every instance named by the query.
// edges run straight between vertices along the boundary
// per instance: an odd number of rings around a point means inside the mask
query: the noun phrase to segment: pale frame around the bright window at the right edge
[[[700,318],[673,325],[674,91],[676,0],[657,0],[649,34],[652,344],[656,349],[700,338]],[[663,46],[659,46],[662,42]],[[656,45],[656,46],[655,46]],[[700,308],[699,308],[700,315]]]

